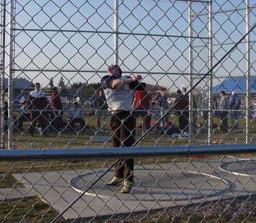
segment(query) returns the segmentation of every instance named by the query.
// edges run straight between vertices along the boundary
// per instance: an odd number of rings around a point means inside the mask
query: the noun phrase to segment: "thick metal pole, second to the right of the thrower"
[[[213,65],[213,31],[212,31],[212,1],[208,3],[208,70],[212,69]],[[212,117],[213,117],[213,106],[212,106],[212,98],[213,98],[213,72],[211,71],[208,75],[208,144],[211,144],[211,136],[212,136]]]

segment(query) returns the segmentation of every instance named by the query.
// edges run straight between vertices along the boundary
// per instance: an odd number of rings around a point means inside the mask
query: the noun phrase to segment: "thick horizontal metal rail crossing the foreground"
[[[186,157],[192,155],[255,153],[256,144],[225,144],[203,146],[158,146],[105,149],[12,149],[0,150],[4,160],[106,159],[132,157]]]

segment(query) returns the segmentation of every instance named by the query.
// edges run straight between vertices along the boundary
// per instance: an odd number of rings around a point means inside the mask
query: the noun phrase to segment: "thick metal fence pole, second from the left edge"
[[[14,35],[13,35],[13,26],[14,26],[14,0],[10,1],[10,60],[9,60],[9,82],[8,82],[8,149],[13,149],[12,138],[13,138],[13,126],[12,126],[12,66],[13,66],[13,44],[14,44]]]

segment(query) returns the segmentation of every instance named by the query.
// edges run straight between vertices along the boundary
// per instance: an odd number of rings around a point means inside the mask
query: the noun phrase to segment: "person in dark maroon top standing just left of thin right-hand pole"
[[[177,97],[174,101],[174,109],[178,116],[178,125],[181,133],[187,132],[189,128],[189,98],[183,95],[181,90],[177,90]]]

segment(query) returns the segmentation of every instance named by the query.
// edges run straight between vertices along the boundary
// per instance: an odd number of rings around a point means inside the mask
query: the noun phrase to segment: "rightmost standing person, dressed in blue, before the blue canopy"
[[[235,91],[230,96],[230,118],[232,128],[238,128],[238,120],[240,117],[241,99],[236,95]]]

